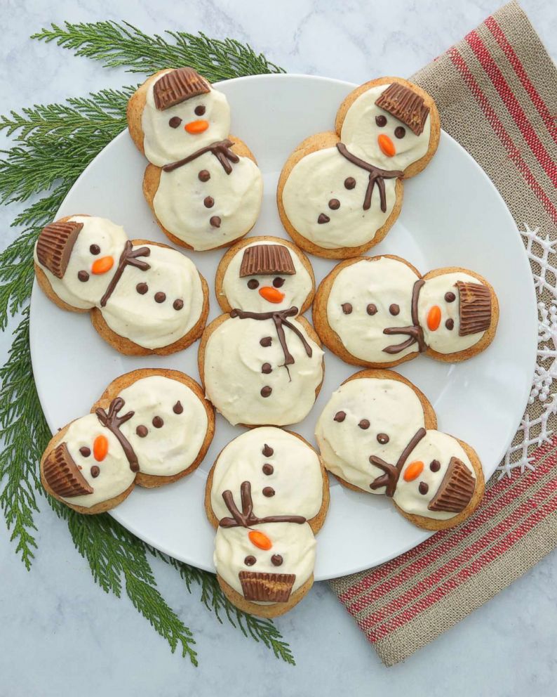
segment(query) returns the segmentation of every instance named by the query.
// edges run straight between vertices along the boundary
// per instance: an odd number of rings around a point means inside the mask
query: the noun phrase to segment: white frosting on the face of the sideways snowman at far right
[[[439,353],[455,353],[456,351],[464,351],[483,337],[485,332],[477,332],[476,334],[467,334],[465,337],[459,337],[459,306],[460,294],[456,285],[457,281],[466,283],[480,283],[477,278],[455,271],[453,273],[443,273],[442,275],[429,278],[420,289],[420,297],[418,299],[418,319],[424,330],[424,339],[428,346],[438,351]],[[452,292],[455,294],[455,300],[449,303],[445,300],[445,293]],[[427,315],[433,306],[441,308],[441,323],[438,329],[431,331],[427,327]],[[445,322],[451,319],[454,322],[452,330],[445,327]]]

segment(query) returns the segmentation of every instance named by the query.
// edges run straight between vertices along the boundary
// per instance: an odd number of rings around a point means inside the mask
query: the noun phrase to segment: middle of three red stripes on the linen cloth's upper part
[[[553,158],[549,152],[547,152],[542,141],[539,140],[535,129],[532,127],[532,124],[530,124],[518,99],[512,93],[509,83],[506,82],[499,66],[490,55],[488,47],[485,46],[480,35],[475,30],[467,34],[464,40],[467,41],[467,44],[472,51],[474,51],[474,55],[478,58],[481,67],[485,70],[485,74],[489,77],[499,97],[503,100],[506,109],[521,131],[533,155],[539,164],[542,165],[547,176],[549,176],[553,182],[553,185],[557,187],[557,165],[553,162]]]

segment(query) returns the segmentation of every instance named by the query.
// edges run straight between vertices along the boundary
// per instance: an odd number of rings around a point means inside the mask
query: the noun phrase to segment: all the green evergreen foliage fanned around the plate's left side
[[[78,55],[101,60],[106,66],[124,65],[132,72],[154,72],[161,67],[192,65],[211,81],[259,72],[282,72],[249,46],[203,34],[167,32],[175,43],[149,37],[127,23],[96,22],[52,26],[35,35],[57,41]],[[10,316],[21,315],[8,360],[0,368],[0,507],[11,530],[15,552],[29,569],[36,550],[36,496],[43,495],[38,463],[51,437],[34,384],[29,349],[29,298],[33,248],[39,230],[55,219],[56,211],[83,169],[126,128],[126,104],[135,87],[105,89],[64,103],[34,105],[21,113],[0,116],[0,131],[14,145],[1,152],[0,202],[28,202],[12,226],[19,236],[0,254],[0,329]],[[41,197],[37,197],[41,194]],[[107,593],[121,597],[122,587],[133,606],[168,642],[171,651],[197,665],[189,628],[156,588],[147,552],[170,564],[189,592],[199,587],[201,601],[222,622],[227,620],[246,637],[261,641],[277,658],[294,663],[288,644],[270,620],[253,618],[224,597],[213,574],[182,564],[156,552],[135,538],[107,514],[81,516],[51,497],[48,502],[67,521],[76,549],[91,574]]]

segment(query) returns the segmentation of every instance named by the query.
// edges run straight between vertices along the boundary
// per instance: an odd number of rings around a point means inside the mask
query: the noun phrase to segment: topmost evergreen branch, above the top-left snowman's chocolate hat
[[[31,38],[55,41],[76,56],[100,60],[105,67],[125,66],[128,72],[152,74],[166,67],[190,65],[210,82],[284,72],[262,53],[234,39],[210,39],[201,32],[164,34],[145,34],[128,22],[64,22],[64,27],[52,24]]]

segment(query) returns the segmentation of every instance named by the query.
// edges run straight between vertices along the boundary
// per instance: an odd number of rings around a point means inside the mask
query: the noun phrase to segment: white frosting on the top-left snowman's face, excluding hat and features
[[[164,73],[167,72],[172,71],[164,71]],[[154,81],[147,89],[145,108],[141,117],[141,127],[144,134],[143,147],[145,148],[145,157],[149,162],[162,167],[164,164],[187,157],[209,143],[228,138],[230,107],[222,92],[211,89],[208,93],[189,98],[168,109],[159,110],[155,106],[153,96],[156,82]],[[195,110],[201,106],[205,107],[205,113],[198,116]],[[172,128],[168,124],[170,119],[174,117],[182,119],[177,128]],[[186,124],[199,119],[208,122],[209,126],[206,131],[188,133],[184,129]]]

